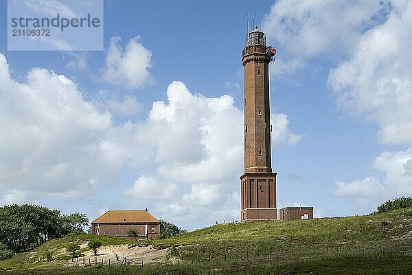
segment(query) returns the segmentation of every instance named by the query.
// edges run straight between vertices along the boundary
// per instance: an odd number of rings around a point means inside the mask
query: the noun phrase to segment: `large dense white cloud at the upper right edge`
[[[353,56],[332,69],[328,84],[349,112],[380,125],[380,141],[412,144],[412,3],[366,32]]]

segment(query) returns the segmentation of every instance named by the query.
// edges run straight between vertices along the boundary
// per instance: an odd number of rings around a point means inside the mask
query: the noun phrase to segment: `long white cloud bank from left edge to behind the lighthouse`
[[[112,113],[135,108],[133,96],[87,102],[73,80],[46,69],[32,69],[19,83],[0,54],[0,198],[85,195],[107,175],[149,167],[152,174],[137,177],[123,195],[159,201],[159,217],[207,224],[210,212],[237,213],[243,112],[231,96],[193,94],[180,81],[166,96],[146,119],[116,124]],[[286,115],[273,117],[277,148],[296,144]]]

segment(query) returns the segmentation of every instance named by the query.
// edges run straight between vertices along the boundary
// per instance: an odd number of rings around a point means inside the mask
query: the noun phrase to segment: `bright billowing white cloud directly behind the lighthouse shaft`
[[[239,196],[238,177],[244,165],[243,112],[231,96],[206,98],[180,81],[172,82],[166,94],[167,100],[153,103],[140,129],[158,167],[150,182],[176,184],[181,195],[174,198],[179,203],[161,202],[153,211],[163,217],[185,210],[191,219],[205,224],[213,222],[211,212],[238,219],[239,201],[233,198]],[[288,129],[286,115],[273,118],[276,148],[299,142],[301,137]]]

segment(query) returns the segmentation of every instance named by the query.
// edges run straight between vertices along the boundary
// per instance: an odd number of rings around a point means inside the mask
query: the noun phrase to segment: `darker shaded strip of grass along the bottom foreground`
[[[70,267],[66,269],[16,270],[8,274],[67,274],[67,275],[131,275],[131,274],[365,274],[365,275],[407,275],[412,274],[412,256],[396,254],[335,255],[312,259],[298,259],[293,262],[254,261],[239,262],[235,265],[211,266],[177,263],[174,265],[147,265],[144,267]]]

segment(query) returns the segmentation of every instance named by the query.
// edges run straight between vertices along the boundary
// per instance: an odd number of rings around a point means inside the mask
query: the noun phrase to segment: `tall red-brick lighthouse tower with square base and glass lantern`
[[[276,173],[271,164],[269,69],[276,50],[255,26],[242,52],[244,66],[244,174],[242,221],[277,219]]]

